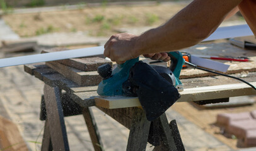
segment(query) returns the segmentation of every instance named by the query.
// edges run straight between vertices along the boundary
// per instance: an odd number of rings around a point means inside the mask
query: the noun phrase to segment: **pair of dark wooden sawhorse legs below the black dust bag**
[[[146,150],[150,126],[151,122],[146,119],[144,112],[141,109],[135,109],[127,143],[127,150]],[[158,131],[156,131],[156,133],[158,133],[156,137],[160,137],[160,145],[154,148],[155,151],[185,150],[175,120],[171,121],[169,125],[166,115],[163,113],[163,115],[154,121],[154,126],[158,129]]]

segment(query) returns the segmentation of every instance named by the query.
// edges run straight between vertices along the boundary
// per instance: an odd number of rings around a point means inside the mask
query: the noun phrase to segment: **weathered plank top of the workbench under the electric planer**
[[[251,62],[224,62],[230,64],[228,73],[239,77],[256,86],[256,51],[243,50],[230,43],[201,44],[182,50],[201,55],[239,55],[250,57]],[[99,98],[96,93],[97,86],[79,86],[66,77],[51,69],[44,63],[25,65],[25,72],[37,77],[49,86],[58,86],[66,91],[80,106],[101,106],[104,108],[122,108],[139,106],[137,98],[117,97]],[[256,94],[251,87],[235,79],[216,76],[198,69],[184,69],[180,74],[184,91],[180,92],[179,101],[201,101],[206,99],[229,98],[233,96],[246,96]],[[96,98],[96,99],[95,99]],[[112,106],[108,101],[112,101]],[[121,101],[117,103],[117,101]],[[124,104],[125,102],[125,104]]]

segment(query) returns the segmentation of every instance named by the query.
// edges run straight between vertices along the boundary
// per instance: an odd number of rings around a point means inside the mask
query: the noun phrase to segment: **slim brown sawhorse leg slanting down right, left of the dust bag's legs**
[[[95,118],[93,116],[93,111],[91,108],[84,108],[83,110],[84,120],[86,122],[86,126],[88,128],[91,142],[93,143],[93,148],[95,151],[102,151],[103,150],[103,143],[100,138],[100,133],[98,131],[98,127],[96,125]]]

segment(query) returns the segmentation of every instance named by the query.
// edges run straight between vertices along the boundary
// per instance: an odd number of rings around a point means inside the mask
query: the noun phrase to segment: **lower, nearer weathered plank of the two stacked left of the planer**
[[[46,65],[67,79],[76,82],[79,86],[96,86],[102,81],[102,77],[96,71],[83,72],[73,67],[59,64],[58,62],[46,62]]]

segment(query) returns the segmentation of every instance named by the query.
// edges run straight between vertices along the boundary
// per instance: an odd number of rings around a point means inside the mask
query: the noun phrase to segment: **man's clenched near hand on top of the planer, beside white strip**
[[[111,36],[104,46],[104,55],[117,64],[139,57],[140,54],[136,52],[136,38],[136,35],[130,33],[119,33]]]

